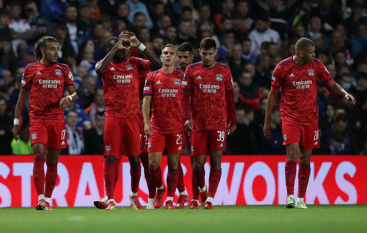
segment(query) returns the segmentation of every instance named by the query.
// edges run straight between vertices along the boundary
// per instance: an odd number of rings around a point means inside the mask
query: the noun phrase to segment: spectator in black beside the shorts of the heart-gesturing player
[[[103,94],[102,94],[103,97]],[[85,154],[103,154],[103,125],[105,124],[104,112],[95,113],[94,127],[83,132]]]

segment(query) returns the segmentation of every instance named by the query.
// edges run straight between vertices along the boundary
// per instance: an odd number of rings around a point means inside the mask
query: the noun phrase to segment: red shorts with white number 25
[[[148,139],[148,153],[162,152],[166,148],[167,154],[182,154],[183,135],[182,134],[159,134],[152,132]]]

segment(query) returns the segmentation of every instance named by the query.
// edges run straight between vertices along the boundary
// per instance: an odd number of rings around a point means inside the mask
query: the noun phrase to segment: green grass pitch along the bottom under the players
[[[214,210],[116,211],[92,207],[0,208],[0,232],[367,232],[367,205],[214,206]]]

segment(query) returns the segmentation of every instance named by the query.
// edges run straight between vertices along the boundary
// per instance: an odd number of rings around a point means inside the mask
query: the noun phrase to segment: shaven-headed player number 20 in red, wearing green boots
[[[307,208],[304,202],[310,177],[310,159],[313,148],[320,148],[316,78],[331,91],[344,96],[355,104],[355,98],[336,83],[327,68],[315,58],[315,44],[301,38],[295,46],[295,55],[281,61],[274,69],[271,90],[266,103],[264,136],[271,135],[270,117],[278,91],[282,97],[280,114],[283,145],[287,150],[285,165],[287,204],[286,208]],[[298,198],[294,198],[294,180],[298,169]]]

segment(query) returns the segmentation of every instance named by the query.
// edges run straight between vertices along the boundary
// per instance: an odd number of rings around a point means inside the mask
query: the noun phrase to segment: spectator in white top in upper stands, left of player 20
[[[255,20],[255,29],[248,34],[251,40],[251,53],[254,55],[261,54],[261,45],[264,42],[273,42],[280,49],[281,38],[276,30],[270,28],[270,19],[268,16],[259,16]]]

